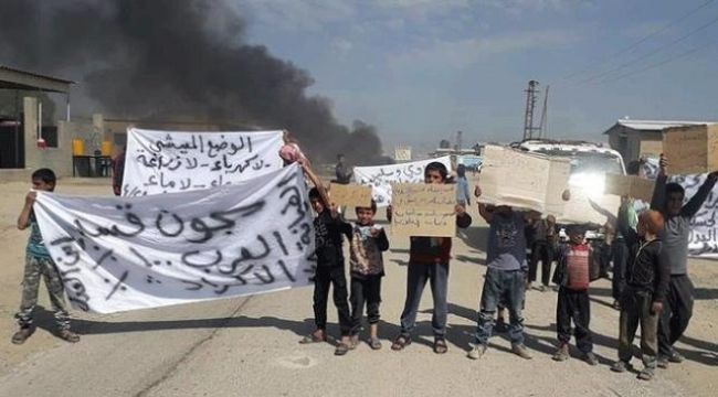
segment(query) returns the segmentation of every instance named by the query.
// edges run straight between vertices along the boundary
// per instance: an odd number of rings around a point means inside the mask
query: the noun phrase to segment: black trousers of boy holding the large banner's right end
[[[337,307],[341,335],[348,336],[351,332],[351,315],[347,302],[347,278],[344,266],[317,267],[314,276],[314,322],[317,329],[327,329],[327,300],[330,285],[334,286],[334,305]]]

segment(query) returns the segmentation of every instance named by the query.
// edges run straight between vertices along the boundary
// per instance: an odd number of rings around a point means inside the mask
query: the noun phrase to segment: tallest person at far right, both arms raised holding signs
[[[658,366],[666,368],[669,362],[680,363],[684,360],[673,345],[686,331],[693,315],[694,287],[687,269],[690,219],[696,216],[716,185],[718,171],[709,173],[698,192],[683,205],[685,190],[677,183],[666,184],[665,157],[661,157],[659,164],[651,208],[662,212],[665,217],[665,227],[661,235],[664,245],[662,255],[671,265],[671,283],[658,323]]]

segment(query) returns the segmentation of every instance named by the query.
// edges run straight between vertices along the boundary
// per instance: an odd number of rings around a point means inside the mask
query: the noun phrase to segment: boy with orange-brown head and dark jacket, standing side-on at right
[[[626,216],[626,211],[619,216]],[[657,211],[644,211],[638,216],[637,233],[625,226],[621,230],[631,246],[631,260],[621,299],[619,361],[611,369],[621,373],[631,366],[633,339],[641,324],[641,358],[645,367],[638,378],[643,380],[652,379],[656,367],[658,316],[671,282],[671,264],[662,255],[666,247],[658,238],[663,223],[663,216]]]

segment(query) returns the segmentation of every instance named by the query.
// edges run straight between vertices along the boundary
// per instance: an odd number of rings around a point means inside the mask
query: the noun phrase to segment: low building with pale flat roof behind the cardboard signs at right
[[[609,144],[623,157],[627,164],[645,157],[658,157],[663,152],[663,130],[671,127],[705,125],[715,121],[666,121],[619,119],[603,132]]]

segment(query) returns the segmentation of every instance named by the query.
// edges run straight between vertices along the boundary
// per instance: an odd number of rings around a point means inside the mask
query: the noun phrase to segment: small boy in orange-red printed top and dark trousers
[[[553,282],[559,285],[556,307],[556,324],[559,348],[553,354],[556,361],[569,358],[571,341],[571,320],[576,325],[576,345],[583,353],[583,360],[590,365],[598,365],[593,354],[593,342],[589,322],[591,304],[589,301],[589,282],[591,267],[591,248],[584,242],[584,230],[579,225],[570,225],[567,230],[569,243],[559,248],[558,267]]]

